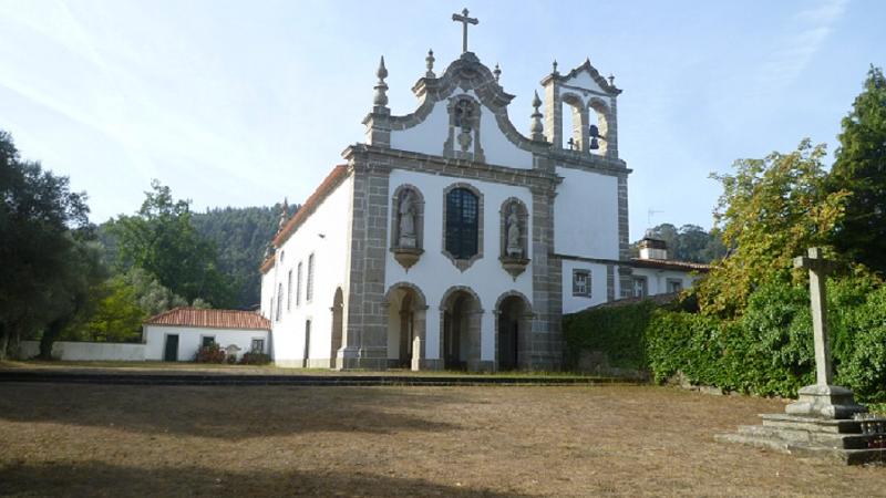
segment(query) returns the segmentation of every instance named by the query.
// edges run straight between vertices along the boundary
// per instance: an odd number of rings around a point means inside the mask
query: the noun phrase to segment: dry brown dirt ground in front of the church
[[[7,496],[886,496],[713,435],[783,403],[668,387],[0,384]]]

